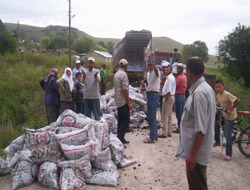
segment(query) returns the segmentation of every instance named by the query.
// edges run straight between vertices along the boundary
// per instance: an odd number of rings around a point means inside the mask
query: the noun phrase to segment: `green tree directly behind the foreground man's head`
[[[201,57],[205,62],[208,61],[208,48],[205,42],[195,41],[193,44],[183,46],[182,59],[186,63],[190,57]]]

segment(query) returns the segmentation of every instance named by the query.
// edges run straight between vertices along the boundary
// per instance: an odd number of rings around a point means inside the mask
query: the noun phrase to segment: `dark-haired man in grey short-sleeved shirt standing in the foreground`
[[[192,82],[180,127],[176,157],[186,160],[189,189],[207,189],[207,165],[212,153],[215,122],[215,94],[204,79],[203,60],[187,61],[187,77]]]

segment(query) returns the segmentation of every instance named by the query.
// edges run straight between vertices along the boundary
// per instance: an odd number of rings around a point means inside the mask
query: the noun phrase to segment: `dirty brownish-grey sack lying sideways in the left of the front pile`
[[[38,144],[32,147],[30,159],[37,164],[42,164],[43,162],[57,164],[65,160],[65,156],[59,145]]]

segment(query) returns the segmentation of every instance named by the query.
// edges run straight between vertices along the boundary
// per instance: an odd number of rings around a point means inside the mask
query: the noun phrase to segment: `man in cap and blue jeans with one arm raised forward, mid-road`
[[[147,61],[148,73],[147,73],[147,108],[148,108],[148,121],[150,136],[144,140],[144,143],[155,143],[157,140],[157,120],[156,110],[159,104],[159,91],[160,91],[160,78],[161,73],[156,68],[152,59]]]

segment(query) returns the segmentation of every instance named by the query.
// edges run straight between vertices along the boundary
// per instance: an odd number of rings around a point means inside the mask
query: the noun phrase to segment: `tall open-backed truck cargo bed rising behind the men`
[[[113,49],[113,71],[119,69],[119,61],[128,61],[127,74],[130,84],[139,86],[144,79],[147,55],[152,51],[152,33],[148,30],[126,32],[125,37]]]

